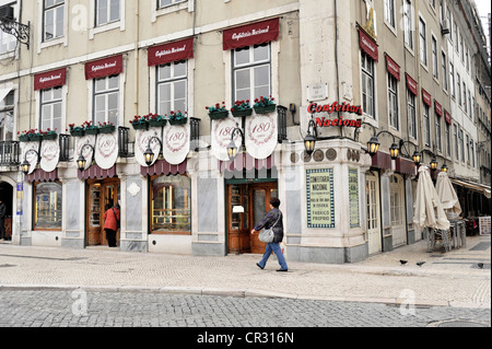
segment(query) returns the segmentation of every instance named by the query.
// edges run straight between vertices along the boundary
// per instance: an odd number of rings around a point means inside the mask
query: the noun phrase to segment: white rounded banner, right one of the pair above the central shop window
[[[179,165],[189,153],[190,126],[167,124],[162,131],[163,155],[172,165]]]

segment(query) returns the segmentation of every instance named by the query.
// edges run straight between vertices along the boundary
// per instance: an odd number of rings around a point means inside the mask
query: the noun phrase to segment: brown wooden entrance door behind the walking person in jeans
[[[277,183],[227,185],[227,252],[265,253],[266,243],[250,231],[270,210],[270,198],[277,197]],[[243,207],[244,213],[234,212]],[[238,246],[241,248],[238,248]]]

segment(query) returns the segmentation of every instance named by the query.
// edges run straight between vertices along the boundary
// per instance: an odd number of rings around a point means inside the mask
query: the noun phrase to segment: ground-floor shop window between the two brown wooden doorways
[[[191,179],[187,176],[156,176],[151,185],[151,233],[191,233]]]

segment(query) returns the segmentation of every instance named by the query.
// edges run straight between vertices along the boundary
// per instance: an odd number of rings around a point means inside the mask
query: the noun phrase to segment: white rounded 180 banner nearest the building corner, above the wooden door
[[[267,159],[278,143],[277,113],[254,114],[246,118],[246,150],[255,159]]]

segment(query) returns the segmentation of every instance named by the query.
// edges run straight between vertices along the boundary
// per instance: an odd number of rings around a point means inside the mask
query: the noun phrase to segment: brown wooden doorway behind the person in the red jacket
[[[104,212],[119,202],[119,183],[118,178],[87,181],[87,246],[107,245]],[[119,243],[119,231],[116,243]]]

